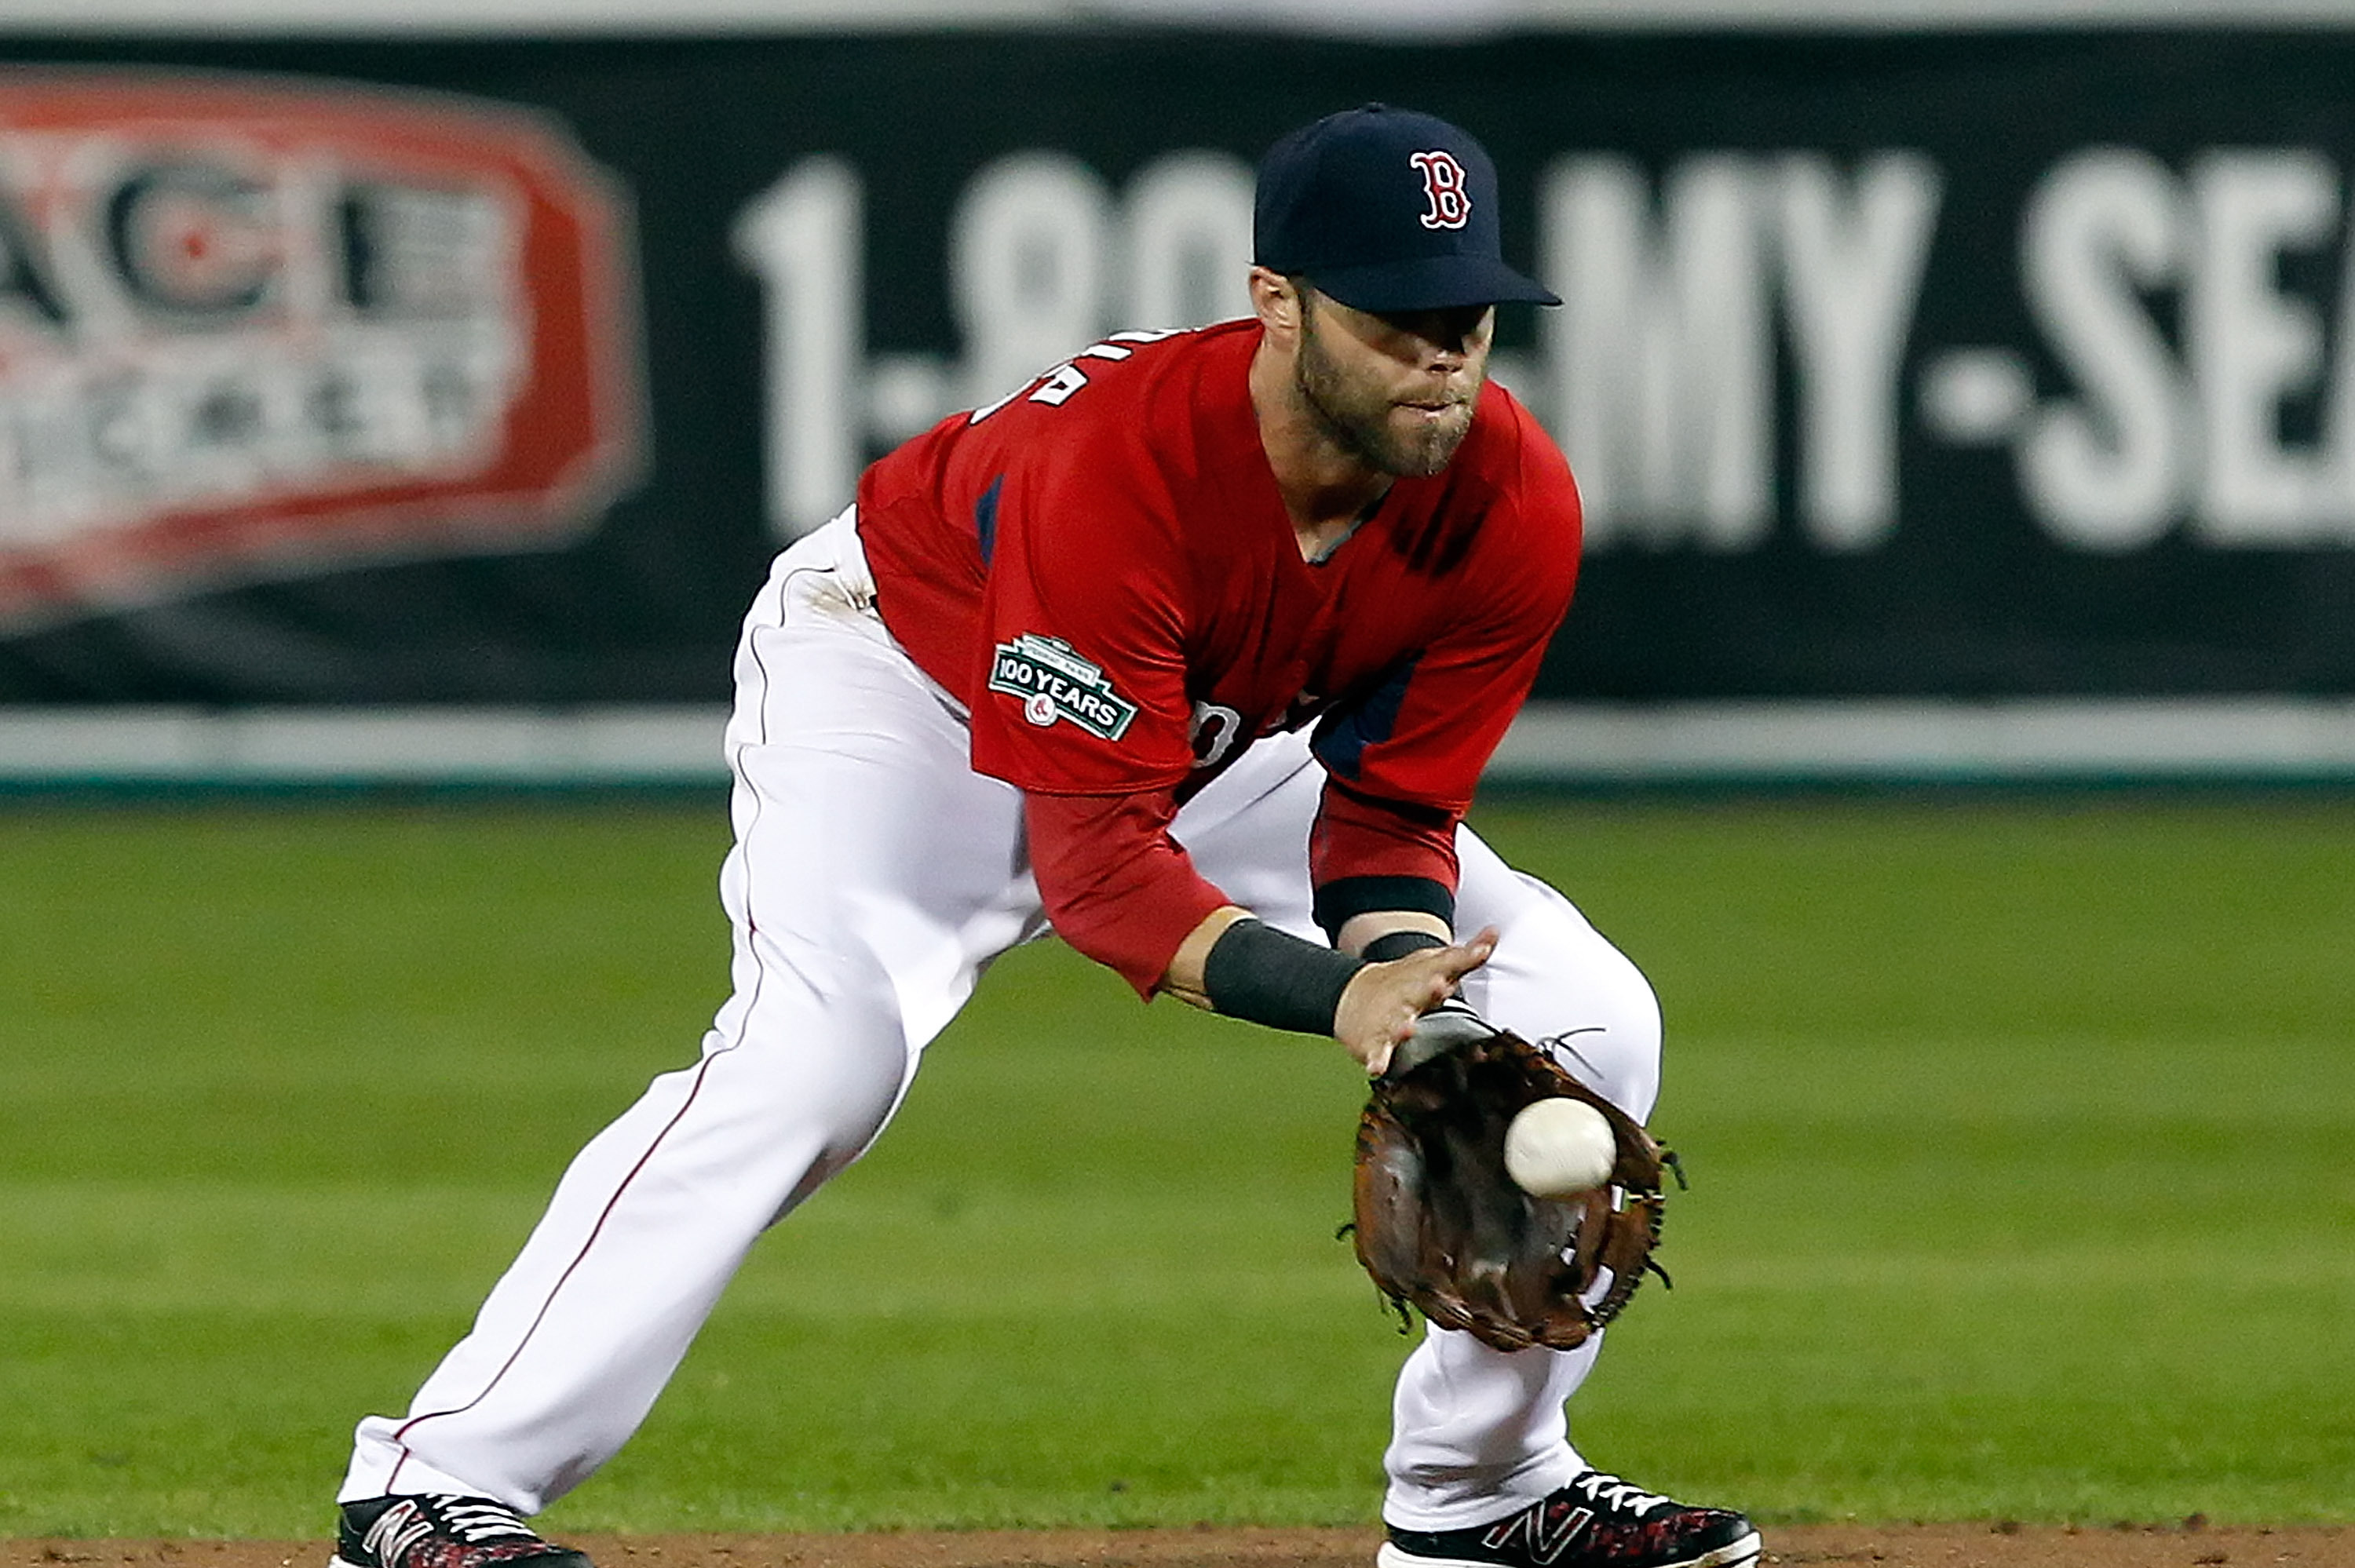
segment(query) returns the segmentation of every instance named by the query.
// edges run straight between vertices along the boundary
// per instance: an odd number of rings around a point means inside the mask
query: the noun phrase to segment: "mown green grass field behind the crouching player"
[[[1500,805],[1693,1191],[1573,1408],[1764,1519],[2355,1521],[2355,803]],[[725,975],[692,805],[0,812],[0,1533],[316,1535]],[[551,1526],[1368,1521],[1333,1048],[1008,958]]]

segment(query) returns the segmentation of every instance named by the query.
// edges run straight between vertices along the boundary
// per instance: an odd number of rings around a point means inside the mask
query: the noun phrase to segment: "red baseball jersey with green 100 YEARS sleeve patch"
[[[973,765],[1034,803],[1145,798],[1166,826],[1251,739],[1314,723],[1316,881],[1453,888],[1453,824],[1571,600],[1568,464],[1491,384],[1446,471],[1302,560],[1251,407],[1258,344],[1248,320],[1114,334],[876,461],[857,501],[878,610],[973,711]],[[1039,855],[1050,909],[1072,859]],[[1203,888],[1180,904],[1215,906]]]

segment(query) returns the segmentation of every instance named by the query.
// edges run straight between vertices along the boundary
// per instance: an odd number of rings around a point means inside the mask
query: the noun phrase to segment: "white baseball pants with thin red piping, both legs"
[[[732,996],[699,1062],[579,1151],[410,1413],[360,1422],[341,1500],[466,1493],[537,1511],[591,1476],[754,1238],[876,1140],[989,961],[1046,930],[1020,793],[973,772],[958,704],[876,619],[853,513],[777,558],[735,685]],[[1300,737],[1274,737],[1173,826],[1234,902],[1316,939],[1319,779]],[[1568,1036],[1571,1067],[1644,1118],[1660,1015],[1641,972],[1470,829],[1458,850],[1458,923],[1500,930],[1467,1001],[1524,1036]],[[1571,1481],[1585,1464],[1561,1406],[1597,1349],[1502,1354],[1429,1330],[1397,1384],[1385,1516],[1460,1528]]]

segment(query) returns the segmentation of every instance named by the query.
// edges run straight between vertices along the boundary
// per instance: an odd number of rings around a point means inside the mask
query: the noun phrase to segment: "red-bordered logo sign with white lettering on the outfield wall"
[[[572,537],[638,464],[626,275],[523,111],[0,73],[0,626]]]

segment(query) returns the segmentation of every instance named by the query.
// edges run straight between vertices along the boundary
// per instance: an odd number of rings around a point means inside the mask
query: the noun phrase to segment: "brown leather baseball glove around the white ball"
[[[1611,1180],[1564,1201],[1505,1175],[1514,1111],[1552,1095],[1611,1123]],[[1441,1010],[1399,1048],[1356,1123],[1356,1260],[1404,1314],[1498,1349],[1571,1349],[1618,1316],[1660,1241],[1660,1172],[1677,1156],[1552,1052]],[[1681,1172],[1679,1172],[1681,1182]],[[1601,1274],[1611,1283],[1585,1300]]]

